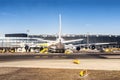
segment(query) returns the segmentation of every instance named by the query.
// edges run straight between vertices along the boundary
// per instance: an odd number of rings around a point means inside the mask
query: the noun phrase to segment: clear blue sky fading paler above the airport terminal
[[[120,35],[119,0],[0,0],[0,34]]]

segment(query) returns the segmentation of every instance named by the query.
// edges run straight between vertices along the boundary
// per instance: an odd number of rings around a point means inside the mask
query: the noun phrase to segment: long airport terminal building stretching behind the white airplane
[[[40,35],[28,35],[26,33],[15,33],[15,34],[5,34],[4,38],[0,38],[0,47],[7,45],[10,43],[32,43],[38,44],[42,43],[37,39],[45,39],[45,40],[56,40],[57,35],[48,35],[48,34],[40,34]],[[70,44],[79,44],[81,48],[88,48],[89,44],[92,44],[89,47],[96,48],[120,48],[120,35],[76,35],[76,34],[67,34],[63,35],[62,38],[64,40],[72,40],[72,39],[83,39],[82,41],[70,43]],[[95,45],[95,43],[110,43],[110,44],[102,44]],[[82,46],[82,44],[86,44]]]

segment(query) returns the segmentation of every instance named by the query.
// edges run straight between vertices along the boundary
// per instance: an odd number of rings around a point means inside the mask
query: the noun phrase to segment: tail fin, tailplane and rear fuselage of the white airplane
[[[64,53],[64,51],[68,48],[68,47],[65,46],[67,43],[72,43],[72,42],[82,41],[82,40],[83,39],[64,40],[62,38],[61,14],[59,14],[59,34],[58,34],[58,38],[55,41],[44,40],[44,39],[41,40],[41,41],[47,42],[50,52]]]

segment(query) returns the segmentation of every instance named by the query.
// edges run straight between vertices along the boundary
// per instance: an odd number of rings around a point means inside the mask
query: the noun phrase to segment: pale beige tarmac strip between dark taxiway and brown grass
[[[114,57],[113,55],[112,57]],[[106,59],[84,55],[79,57],[80,64],[74,64],[75,58],[47,58],[34,56],[26,58],[4,57],[0,58],[0,67],[23,67],[23,68],[57,68],[57,69],[89,69],[89,70],[120,70],[120,56]],[[115,56],[116,57],[116,56]]]

